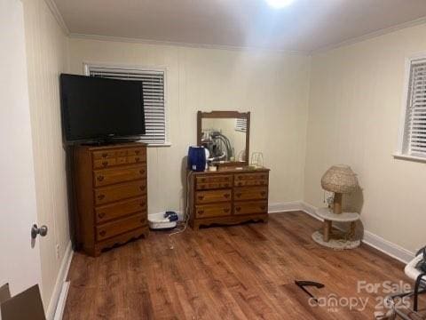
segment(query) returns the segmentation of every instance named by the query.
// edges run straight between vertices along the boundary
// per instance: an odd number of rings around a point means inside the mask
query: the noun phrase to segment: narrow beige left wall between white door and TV
[[[65,153],[59,108],[59,73],[67,70],[67,37],[43,0],[24,0],[23,4],[37,222],[49,228],[48,236],[40,239],[42,296],[44,307],[48,308],[69,244]],[[59,246],[59,256],[56,245]]]

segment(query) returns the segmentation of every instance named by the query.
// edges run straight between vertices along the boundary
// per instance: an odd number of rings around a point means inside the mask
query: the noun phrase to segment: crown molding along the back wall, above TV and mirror
[[[201,48],[201,49],[216,49],[226,51],[250,51],[250,52],[275,52],[288,55],[303,55],[309,56],[310,52],[296,51],[296,50],[285,50],[285,49],[272,49],[257,46],[238,46],[238,45],[222,45],[222,44],[192,44],[182,43],[174,41],[162,41],[162,40],[149,40],[142,38],[132,38],[126,36],[99,36],[99,35],[86,35],[79,33],[69,33],[70,38],[75,39],[88,39],[98,41],[109,41],[109,42],[122,42],[130,44],[153,44],[153,45],[167,45],[167,46],[180,46],[189,48]]]

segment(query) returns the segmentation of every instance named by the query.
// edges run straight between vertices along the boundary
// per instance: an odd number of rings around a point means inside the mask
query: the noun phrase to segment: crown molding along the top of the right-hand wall
[[[420,19],[400,23],[396,26],[392,26],[392,27],[389,27],[389,28],[383,28],[383,29],[377,30],[375,32],[371,32],[371,33],[364,35],[364,36],[353,37],[351,39],[344,40],[343,42],[340,42],[338,44],[326,45],[326,46],[321,47],[319,49],[313,50],[312,52],[310,52],[310,54],[315,55],[315,54],[319,54],[319,53],[323,53],[323,52],[328,52],[328,51],[331,51],[331,50],[334,50],[334,49],[338,49],[338,48],[341,48],[343,46],[347,46],[347,45],[351,45],[351,44],[358,44],[362,41],[373,39],[377,36],[384,36],[384,35],[390,34],[392,32],[396,32],[398,30],[402,30],[402,29],[405,29],[405,28],[411,28],[411,27],[422,25],[422,24],[426,24],[426,17],[422,17]]]

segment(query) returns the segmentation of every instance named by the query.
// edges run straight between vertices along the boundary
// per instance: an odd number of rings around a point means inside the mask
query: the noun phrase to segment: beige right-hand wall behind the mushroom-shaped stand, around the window
[[[397,160],[405,59],[426,52],[426,25],[312,58],[304,199],[323,205],[319,180],[331,164],[358,173],[365,229],[414,251],[425,244],[426,165]],[[344,200],[344,199],[343,199]]]

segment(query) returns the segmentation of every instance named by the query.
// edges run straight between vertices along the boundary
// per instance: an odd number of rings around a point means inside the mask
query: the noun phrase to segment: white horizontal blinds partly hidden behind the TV
[[[146,134],[141,136],[141,140],[149,145],[164,145],[166,143],[164,71],[93,65],[86,65],[85,68],[87,76],[141,81],[146,126]]]

